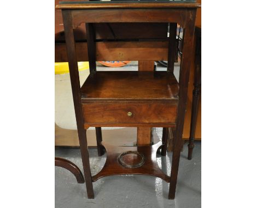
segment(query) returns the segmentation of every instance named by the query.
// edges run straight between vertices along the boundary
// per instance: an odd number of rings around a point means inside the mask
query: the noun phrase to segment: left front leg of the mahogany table
[[[77,65],[77,57],[75,56],[75,42],[72,28],[72,12],[71,10],[62,11],[65,38],[67,46],[67,57],[69,74],[71,79],[72,95],[74,101],[75,118],[77,119],[78,138],[84,168],[85,183],[87,195],[89,199],[94,198],[94,190],[92,187],[91,170],[89,162],[89,152],[87,146],[86,130],[84,129],[83,109],[81,103],[80,81]]]

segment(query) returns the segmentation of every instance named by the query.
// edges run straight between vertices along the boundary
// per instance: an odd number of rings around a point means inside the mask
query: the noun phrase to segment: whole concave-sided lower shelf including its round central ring
[[[170,182],[167,176],[158,166],[156,151],[162,145],[161,142],[152,146],[113,146],[101,143],[107,151],[107,160],[102,170],[92,176],[95,182],[100,178],[110,175],[152,175]]]

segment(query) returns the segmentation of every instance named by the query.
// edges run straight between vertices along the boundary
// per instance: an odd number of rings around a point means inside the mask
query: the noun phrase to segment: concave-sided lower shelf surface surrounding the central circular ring
[[[98,179],[109,175],[140,174],[156,176],[166,182],[170,182],[170,176],[167,176],[162,172],[156,161],[156,151],[162,145],[161,142],[151,146],[112,146],[107,143],[102,144],[107,150],[107,160],[102,170],[98,174],[92,176],[93,181],[97,181]],[[118,157],[125,151],[138,151],[143,154],[145,157],[143,166],[138,168],[125,168],[121,166],[118,162]]]

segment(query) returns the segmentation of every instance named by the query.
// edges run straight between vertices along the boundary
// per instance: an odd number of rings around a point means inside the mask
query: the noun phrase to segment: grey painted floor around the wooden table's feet
[[[97,156],[97,149],[89,149],[92,175],[98,173],[106,155]],[[85,184],[79,184],[68,170],[55,167],[55,208],[75,207],[201,207],[201,142],[195,142],[193,159],[187,160],[184,145],[179,163],[176,199],[168,200],[168,183],[153,176],[108,176],[94,182],[95,199],[88,199]],[[56,148],[56,157],[64,157],[82,170],[79,148]],[[159,167],[170,175],[170,158],[158,155]]]

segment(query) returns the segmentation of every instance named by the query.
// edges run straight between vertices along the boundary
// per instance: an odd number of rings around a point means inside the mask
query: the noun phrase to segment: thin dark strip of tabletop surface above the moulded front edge
[[[88,3],[196,3],[196,0],[91,0],[91,1],[74,1],[60,2],[60,4],[88,4]]]

